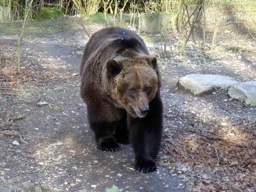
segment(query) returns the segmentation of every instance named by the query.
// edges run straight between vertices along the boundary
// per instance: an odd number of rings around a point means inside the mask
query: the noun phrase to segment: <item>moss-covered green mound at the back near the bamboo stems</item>
[[[62,17],[62,16],[63,16],[63,12],[56,7],[53,7],[53,8],[43,7],[40,9],[39,13],[36,15],[35,21],[53,19],[53,18]]]

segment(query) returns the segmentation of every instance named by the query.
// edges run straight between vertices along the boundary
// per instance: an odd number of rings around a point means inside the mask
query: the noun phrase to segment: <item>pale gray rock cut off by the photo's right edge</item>
[[[256,106],[256,81],[239,82],[232,85],[227,94],[235,99],[241,99],[246,105]]]

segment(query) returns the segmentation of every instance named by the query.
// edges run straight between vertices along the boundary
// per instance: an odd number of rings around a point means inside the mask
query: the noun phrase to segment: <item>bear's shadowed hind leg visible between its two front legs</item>
[[[120,121],[117,122],[114,136],[117,140],[117,143],[129,144],[129,131],[127,129],[126,115]]]

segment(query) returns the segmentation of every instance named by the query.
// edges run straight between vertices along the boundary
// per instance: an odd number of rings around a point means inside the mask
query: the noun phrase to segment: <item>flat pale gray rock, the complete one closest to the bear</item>
[[[234,79],[222,75],[190,74],[179,79],[179,86],[190,90],[193,95],[212,93],[237,83]]]

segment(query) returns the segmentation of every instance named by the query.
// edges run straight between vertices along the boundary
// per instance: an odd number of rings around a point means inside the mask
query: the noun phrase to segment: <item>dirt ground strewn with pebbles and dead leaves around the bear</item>
[[[226,90],[199,97],[177,88],[191,73],[255,81],[255,41],[241,34],[232,42],[235,31],[226,27],[213,51],[198,50],[191,39],[183,56],[163,58],[159,34],[141,34],[159,58],[165,124],[158,170],[142,174],[134,170],[130,145],[118,153],[96,148],[79,96],[88,37],[65,21],[56,33],[24,37],[22,75],[15,69],[18,32],[0,33],[0,186],[20,192],[33,191],[23,187],[26,181],[43,191],[103,192],[113,184],[131,192],[256,191],[256,108],[230,99]],[[92,34],[103,26],[86,27]],[[177,36],[170,35],[170,52]]]

